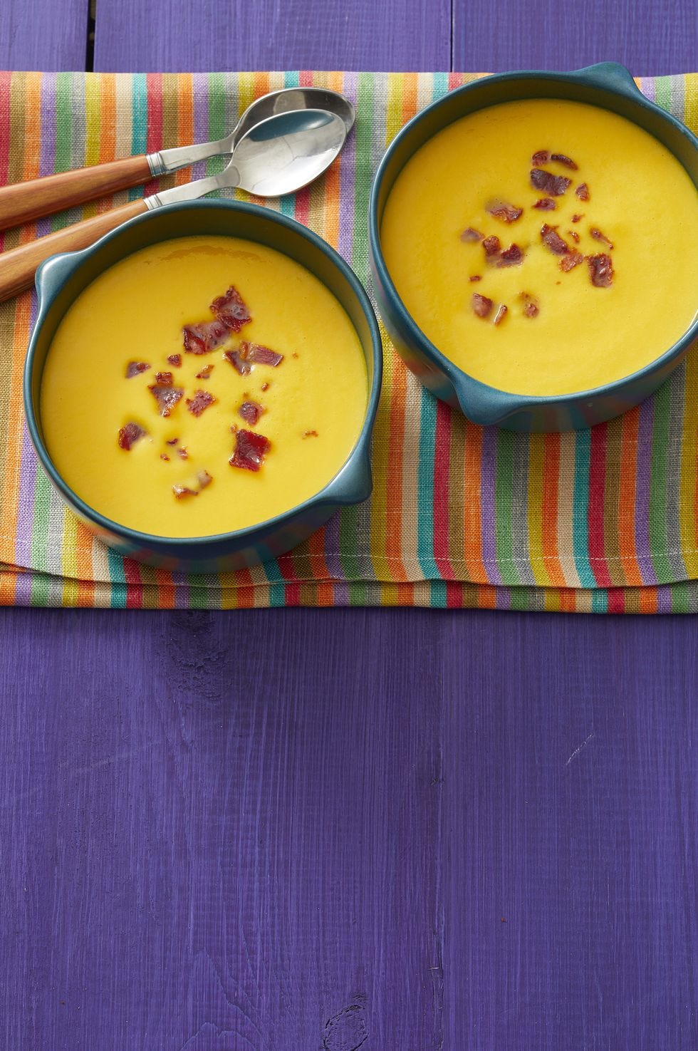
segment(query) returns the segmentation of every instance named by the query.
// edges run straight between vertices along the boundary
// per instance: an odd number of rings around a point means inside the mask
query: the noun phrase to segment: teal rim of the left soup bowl
[[[369,328],[369,334],[371,339],[371,350],[373,357],[373,378],[368,384],[368,397],[366,401],[366,409],[364,412],[364,418],[361,426],[361,430],[356,437],[354,445],[352,446],[346,459],[342,462],[340,468],[335,471],[331,478],[323,486],[321,490],[314,493],[312,496],[303,500],[301,503],[293,504],[287,511],[283,511],[272,518],[265,518],[262,521],[254,522],[251,526],[245,526],[243,529],[239,530],[228,530],[224,533],[207,533],[197,536],[165,536],[164,534],[146,533],[141,530],[132,529],[129,526],[124,526],[122,522],[118,522],[106,515],[101,514],[89,503],[80,497],[74,489],[65,481],[63,476],[55,467],[46,448],[46,445],[41,436],[38,417],[39,410],[35,413],[34,403],[32,396],[32,382],[34,376],[35,362],[37,355],[37,345],[39,343],[39,336],[43,323],[46,318],[46,314],[54,303],[57,292],[63,287],[66,281],[73,277],[83,266],[85,261],[98,253],[104,245],[108,242],[116,240],[117,238],[123,235],[123,231],[132,226],[141,225],[152,221],[157,217],[162,217],[165,213],[174,213],[181,211],[188,211],[192,209],[215,209],[222,208],[226,211],[231,212],[242,212],[250,214],[252,217],[258,217],[259,219],[264,219],[270,221],[272,224],[278,224],[285,227],[291,232],[301,238],[305,238],[309,241],[311,245],[320,249],[320,251],[327,257],[330,264],[332,264],[342,274],[342,276],[347,281],[349,287],[353,291],[362,312],[366,318]],[[168,238],[162,238],[159,240],[176,240],[178,234],[170,235]],[[188,236],[188,234],[182,234],[182,236]],[[225,233],[221,236],[226,236]],[[234,236],[234,234],[229,234],[229,236]],[[251,241],[252,238],[246,238],[246,240]],[[153,244],[159,243],[158,241],[152,242]],[[146,247],[146,246],[143,246]],[[267,246],[271,247],[271,246]],[[140,251],[141,249],[135,249],[135,251]],[[274,248],[274,251],[281,252],[281,254],[286,255],[287,253],[282,251],[280,248]],[[122,257],[126,259],[128,255],[132,255],[135,252],[126,252]],[[288,256],[292,259],[293,256]],[[60,280],[56,288],[50,289],[46,292],[44,288],[45,276],[44,268],[49,268],[52,264],[56,261],[64,261],[65,264],[69,264],[69,269],[67,269],[63,274],[61,274]],[[297,262],[297,261],[296,261]],[[111,264],[115,265],[115,264]],[[299,264],[303,266],[303,264]],[[105,267],[100,271],[103,273],[108,267]],[[304,267],[307,269],[307,267]],[[48,272],[48,271],[47,271]],[[313,274],[316,276],[316,274]],[[93,279],[95,280],[95,279]],[[317,277],[317,281],[321,281]],[[323,283],[321,281],[321,283]],[[324,283],[323,283],[324,284]],[[87,285],[85,285],[85,288]],[[288,215],[284,215],[281,212],[273,211],[271,208],[266,208],[260,205],[250,204],[247,201],[237,201],[230,200],[228,198],[217,198],[212,200],[198,200],[198,201],[184,201],[171,205],[166,205],[164,207],[159,207],[144,212],[141,215],[137,215],[134,219],[128,220],[125,223],[120,224],[116,229],[110,230],[108,233],[101,236],[93,245],[87,248],[80,249],[74,252],[59,252],[56,255],[49,256],[45,260],[39,269],[37,270],[36,276],[36,288],[38,292],[38,310],[36,321],[32,330],[32,336],[29,339],[29,345],[27,348],[26,358],[24,363],[24,374],[23,374],[23,401],[24,401],[24,415],[27,424],[27,429],[29,431],[29,436],[36,450],[36,453],[41,461],[43,469],[48,474],[50,480],[58,489],[59,493],[63,498],[74,507],[77,512],[86,518],[88,521],[97,526],[100,530],[115,534],[131,543],[137,543],[139,547],[148,547],[153,549],[163,549],[171,547],[191,547],[198,549],[201,547],[213,547],[218,543],[239,541],[235,544],[235,550],[240,550],[245,547],[245,541],[254,542],[260,539],[260,534],[268,534],[275,529],[282,528],[287,524],[290,520],[294,519],[299,514],[311,510],[313,508],[322,507],[325,504],[332,504],[336,507],[351,506],[357,502],[362,502],[367,499],[372,490],[371,481],[371,467],[370,467],[370,445],[372,438],[373,424],[375,420],[375,415],[378,408],[378,400],[381,397],[381,386],[383,378],[383,348],[381,343],[381,333],[378,329],[378,323],[375,316],[375,312],[371,305],[371,301],[364,289],[364,286],[360,282],[358,277],[351,269],[349,264],[343,259],[342,255],[333,248],[327,241],[321,238],[313,230],[309,229],[303,224],[296,222],[294,219],[290,219]],[[336,298],[336,296],[335,296]],[[75,302],[75,297],[66,307]],[[337,301],[338,302],[338,301]],[[342,306],[342,304],[340,304]],[[343,307],[343,309],[345,309]],[[346,310],[345,310],[346,313]],[[63,315],[64,316],[64,315]],[[353,326],[352,326],[353,327]],[[368,370],[367,370],[368,372]],[[367,375],[368,379],[368,375]],[[341,475],[352,465],[360,465],[363,468],[364,473],[368,475],[367,485],[363,488],[367,490],[364,495],[357,498],[356,492],[351,492],[353,487],[356,490],[356,486],[353,480],[349,480],[348,492],[343,494],[340,491],[332,492],[332,489],[338,489],[338,479]]]

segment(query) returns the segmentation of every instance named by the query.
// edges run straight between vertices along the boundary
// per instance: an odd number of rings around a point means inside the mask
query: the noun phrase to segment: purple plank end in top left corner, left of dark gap
[[[0,69],[84,69],[87,0],[0,4]]]

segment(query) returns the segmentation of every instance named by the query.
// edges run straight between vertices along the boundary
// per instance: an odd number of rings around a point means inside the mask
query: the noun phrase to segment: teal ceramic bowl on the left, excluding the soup
[[[102,271],[125,255],[170,238],[227,234],[255,241],[295,260],[342,304],[358,335],[369,395],[363,427],[348,459],[311,499],[275,518],[215,536],[152,536],[111,521],[88,507],[56,470],[44,444],[39,392],[46,354],[68,307]],[[381,392],[383,355],[375,314],[355,274],[326,242],[299,223],[266,208],[235,201],[193,201],[131,220],[80,252],[54,255],[37,273],[39,312],[24,369],[24,411],[32,441],[57,491],[109,547],[172,572],[228,572],[266,561],[305,540],[338,508],[371,493],[370,445]]]

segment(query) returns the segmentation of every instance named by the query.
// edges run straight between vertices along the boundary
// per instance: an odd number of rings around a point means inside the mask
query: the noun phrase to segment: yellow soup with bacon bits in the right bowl
[[[695,316],[696,189],[656,139],[595,106],[527,100],[451,124],[398,176],[381,240],[419,328],[500,390],[619,379]]]

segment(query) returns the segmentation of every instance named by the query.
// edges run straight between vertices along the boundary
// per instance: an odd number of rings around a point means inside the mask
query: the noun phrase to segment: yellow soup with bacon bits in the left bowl
[[[210,305],[231,287],[247,308],[239,330],[188,352],[184,327],[211,330],[224,308]],[[271,248],[197,236],[136,252],[76,300],[48,352],[41,420],[89,507],[186,537],[265,521],[319,492],[366,404],[358,336],[316,277]]]

